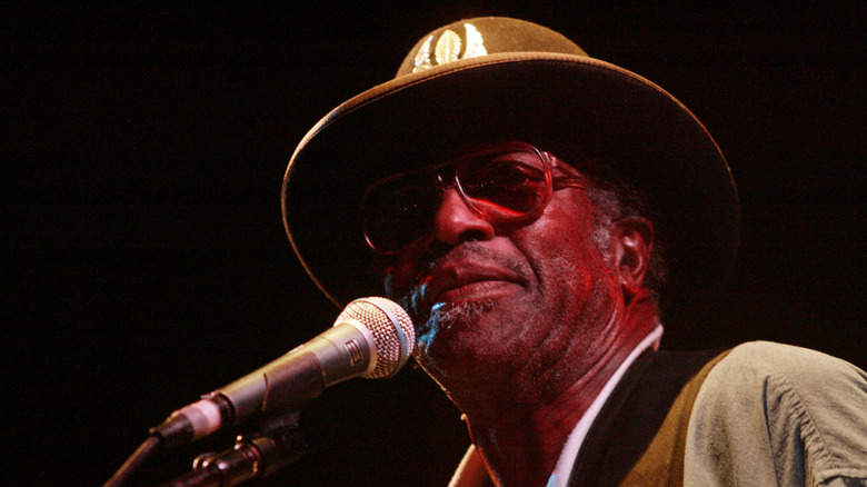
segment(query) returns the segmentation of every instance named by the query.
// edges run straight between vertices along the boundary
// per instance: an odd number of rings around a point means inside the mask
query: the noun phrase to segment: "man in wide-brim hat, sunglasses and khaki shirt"
[[[725,280],[735,187],[682,105],[557,32],[423,37],[301,141],[283,215],[336,304],[412,316],[472,438],[455,485],[867,485],[863,371],[655,351]]]

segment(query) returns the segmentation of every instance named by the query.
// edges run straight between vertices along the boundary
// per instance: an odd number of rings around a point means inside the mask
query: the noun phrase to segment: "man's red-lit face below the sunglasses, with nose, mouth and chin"
[[[472,382],[532,376],[604,342],[622,299],[596,228],[582,188],[555,190],[518,226],[447,188],[429,232],[388,257],[386,291],[412,315],[419,362],[441,384]]]

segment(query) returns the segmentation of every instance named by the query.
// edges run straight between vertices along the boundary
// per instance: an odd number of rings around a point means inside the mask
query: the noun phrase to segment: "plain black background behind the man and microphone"
[[[546,24],[654,80],[727,155],[739,264],[711,318],[669,347],[773,339],[867,365],[863,10],[411,3],[2,7],[0,483],[100,485],[171,410],[330,326],[338,310],[283,235],[286,162],[421,36],[479,14]],[[329,389],[302,425],[309,449],[279,484],[445,485],[468,444],[410,368]]]

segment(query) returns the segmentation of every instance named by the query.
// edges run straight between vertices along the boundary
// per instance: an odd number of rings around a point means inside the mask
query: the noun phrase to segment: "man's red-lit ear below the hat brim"
[[[654,223],[647,218],[626,217],[615,222],[611,237],[615,268],[628,302],[644,287],[654,250]]]

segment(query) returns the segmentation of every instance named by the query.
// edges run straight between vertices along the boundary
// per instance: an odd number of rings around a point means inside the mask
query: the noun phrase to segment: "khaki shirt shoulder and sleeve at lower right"
[[[801,347],[733,348],[696,397],[685,474],[696,485],[866,481],[867,374]]]

